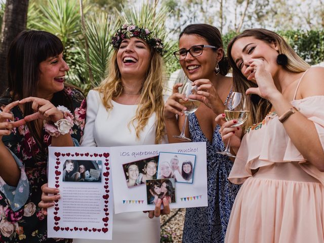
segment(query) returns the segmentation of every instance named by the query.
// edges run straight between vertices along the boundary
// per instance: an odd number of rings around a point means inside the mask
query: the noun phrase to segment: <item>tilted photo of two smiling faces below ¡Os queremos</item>
[[[158,156],[133,161],[123,165],[125,180],[128,187],[146,183],[146,180],[156,179]]]

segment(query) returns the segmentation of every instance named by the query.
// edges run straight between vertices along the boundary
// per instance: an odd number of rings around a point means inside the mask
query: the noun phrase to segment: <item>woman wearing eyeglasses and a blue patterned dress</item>
[[[198,109],[188,116],[185,135],[190,136],[193,142],[206,142],[208,177],[208,207],[187,209],[182,240],[223,242],[239,187],[227,180],[232,161],[216,153],[224,150],[224,144],[215,117],[224,112],[224,104],[232,92],[232,78],[225,76],[229,65],[224,57],[221,33],[216,27],[208,24],[188,25],[180,34],[179,48],[174,55],[193,85],[198,86],[197,95],[192,99],[201,101]],[[186,98],[179,94],[181,86],[176,84],[173,87],[173,94],[164,109],[171,143],[181,142],[173,137],[180,134],[184,123],[186,107],[179,103],[179,99]]]

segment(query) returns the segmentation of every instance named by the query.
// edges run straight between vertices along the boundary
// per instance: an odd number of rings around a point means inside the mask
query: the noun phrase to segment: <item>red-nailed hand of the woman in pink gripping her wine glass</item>
[[[231,148],[234,151],[237,151],[239,146],[241,145],[242,128],[240,126],[231,127],[237,123],[237,120],[225,121],[224,118],[224,113],[216,116],[215,118],[216,122],[221,126],[219,132],[222,136],[222,141],[224,142],[224,144],[227,144],[228,139],[231,139]]]

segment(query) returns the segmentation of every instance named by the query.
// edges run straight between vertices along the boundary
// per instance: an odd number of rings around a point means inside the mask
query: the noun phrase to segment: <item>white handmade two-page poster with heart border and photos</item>
[[[48,237],[112,239],[112,204],[115,213],[154,210],[158,198],[206,207],[206,159],[206,143],[49,147],[49,187],[61,198]]]

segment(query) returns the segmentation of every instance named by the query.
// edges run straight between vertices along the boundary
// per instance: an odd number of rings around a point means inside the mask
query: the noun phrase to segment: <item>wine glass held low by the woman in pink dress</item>
[[[226,121],[233,119],[237,121],[237,123],[231,127],[238,127],[245,123],[250,112],[250,102],[251,101],[249,96],[238,92],[232,92],[229,99],[227,100],[226,108],[224,111]],[[228,139],[225,150],[217,153],[230,157],[236,157],[230,152],[230,138]]]

